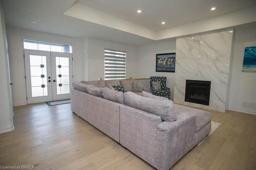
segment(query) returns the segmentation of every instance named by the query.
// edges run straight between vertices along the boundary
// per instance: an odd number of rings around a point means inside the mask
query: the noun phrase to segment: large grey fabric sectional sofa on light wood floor
[[[83,83],[103,89],[109,82]],[[173,104],[175,119],[172,117],[173,122],[168,122],[162,115],[136,109],[138,104],[131,107],[131,92],[123,94],[124,104],[121,104],[89,94],[86,88],[75,88],[71,89],[71,108],[75,114],[157,169],[171,168],[210,133],[211,114],[203,110]],[[161,99],[152,100],[157,104]],[[143,105],[144,101],[140,101]]]

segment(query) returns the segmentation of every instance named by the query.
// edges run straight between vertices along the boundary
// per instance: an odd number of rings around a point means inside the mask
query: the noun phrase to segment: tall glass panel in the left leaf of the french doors
[[[46,56],[30,55],[30,80],[32,98],[47,96],[47,65]]]

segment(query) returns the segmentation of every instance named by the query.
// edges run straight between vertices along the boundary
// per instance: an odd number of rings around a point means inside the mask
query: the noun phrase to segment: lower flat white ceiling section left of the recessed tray
[[[153,40],[63,15],[75,0],[2,0],[6,25],[74,38],[143,45]],[[36,24],[31,21],[37,21]]]

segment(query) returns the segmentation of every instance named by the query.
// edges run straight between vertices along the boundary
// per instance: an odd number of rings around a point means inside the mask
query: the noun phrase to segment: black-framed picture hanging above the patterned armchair
[[[156,55],[156,72],[175,72],[176,53]]]

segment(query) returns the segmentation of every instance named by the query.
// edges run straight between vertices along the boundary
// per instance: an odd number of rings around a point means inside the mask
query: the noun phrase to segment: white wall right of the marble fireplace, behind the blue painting
[[[245,47],[256,46],[256,25],[249,29],[236,30],[233,43],[228,109],[256,114],[256,72],[242,72]],[[243,102],[247,102],[247,104],[245,103],[243,106]]]

